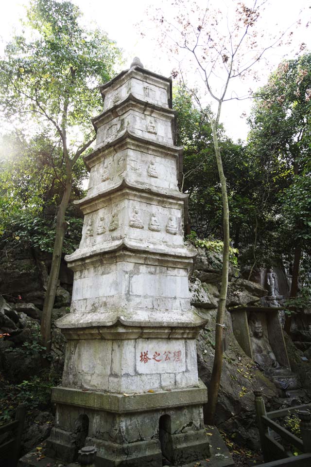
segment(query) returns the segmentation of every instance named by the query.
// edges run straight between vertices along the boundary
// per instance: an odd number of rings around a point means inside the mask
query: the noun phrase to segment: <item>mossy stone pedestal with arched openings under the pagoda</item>
[[[96,467],[182,465],[209,456],[203,425],[206,387],[134,395],[54,388],[56,426],[47,454],[72,462],[82,446],[98,449]]]

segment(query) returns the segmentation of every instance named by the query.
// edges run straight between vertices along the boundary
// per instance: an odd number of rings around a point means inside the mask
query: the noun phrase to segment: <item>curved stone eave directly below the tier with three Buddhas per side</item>
[[[138,245],[123,238],[121,240],[112,242],[108,246],[102,245],[94,249],[90,249],[89,247],[83,250],[78,249],[74,253],[67,254],[65,256],[65,260],[69,263],[68,267],[71,268],[72,266],[74,266],[74,263],[76,261],[80,261],[86,258],[91,258],[93,256],[97,256],[103,253],[119,251],[121,249],[125,249],[128,251],[136,251],[136,252],[139,251],[144,254],[149,253],[149,254],[164,255],[168,258],[171,257],[173,260],[176,260],[176,259],[185,260],[186,259],[187,261],[187,259],[189,259],[191,261],[191,264],[192,264],[192,259],[197,255],[196,250],[194,249],[192,250],[186,247],[185,245],[182,245],[180,247],[176,247],[175,245],[167,245],[166,246],[167,249],[161,248],[160,245],[163,245],[163,244],[159,244],[157,248],[154,245],[149,246],[147,244],[144,245],[142,243],[139,243]]]

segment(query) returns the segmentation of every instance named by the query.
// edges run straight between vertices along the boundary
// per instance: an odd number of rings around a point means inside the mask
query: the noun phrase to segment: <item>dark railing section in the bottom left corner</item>
[[[0,467],[16,467],[20,457],[20,443],[24,428],[26,408],[17,407],[14,422],[6,423],[0,427]]]

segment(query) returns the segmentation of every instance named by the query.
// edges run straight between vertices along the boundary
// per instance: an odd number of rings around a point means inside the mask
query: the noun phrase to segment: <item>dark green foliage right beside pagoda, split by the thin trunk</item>
[[[173,90],[173,107],[177,110],[177,144],[184,146],[182,190],[189,194],[191,227],[198,235],[222,236],[223,206],[221,186],[215,159],[212,130],[206,111],[195,107],[191,94],[182,86]],[[251,166],[244,158],[245,148],[234,144],[219,126],[230,209],[230,229],[235,243],[249,230],[253,205]]]

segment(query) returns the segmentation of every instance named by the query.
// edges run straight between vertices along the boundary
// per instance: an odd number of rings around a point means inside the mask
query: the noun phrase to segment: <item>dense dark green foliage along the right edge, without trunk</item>
[[[256,168],[254,204],[258,253],[274,242],[274,255],[311,238],[311,54],[286,60],[256,97],[249,119],[250,160]],[[310,253],[309,253],[310,254]]]

